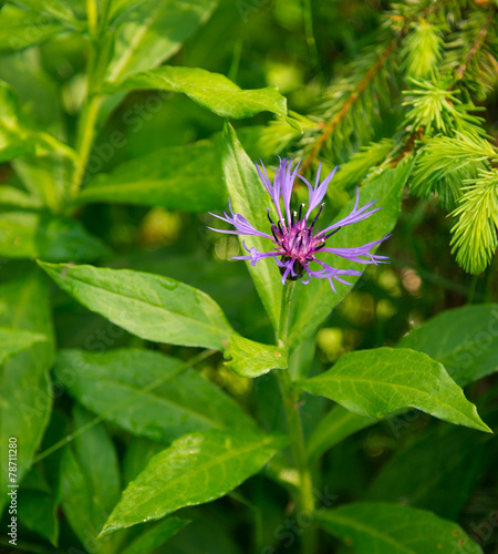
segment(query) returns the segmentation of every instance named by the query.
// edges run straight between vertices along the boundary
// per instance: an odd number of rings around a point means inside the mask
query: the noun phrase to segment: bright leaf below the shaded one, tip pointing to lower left
[[[124,491],[101,535],[224,496],[261,470],[287,439],[208,429],[156,454]]]

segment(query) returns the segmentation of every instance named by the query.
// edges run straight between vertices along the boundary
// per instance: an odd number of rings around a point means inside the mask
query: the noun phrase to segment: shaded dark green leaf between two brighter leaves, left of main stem
[[[156,441],[209,428],[255,427],[234,400],[185,362],[149,350],[61,350],[55,380],[89,410]]]

